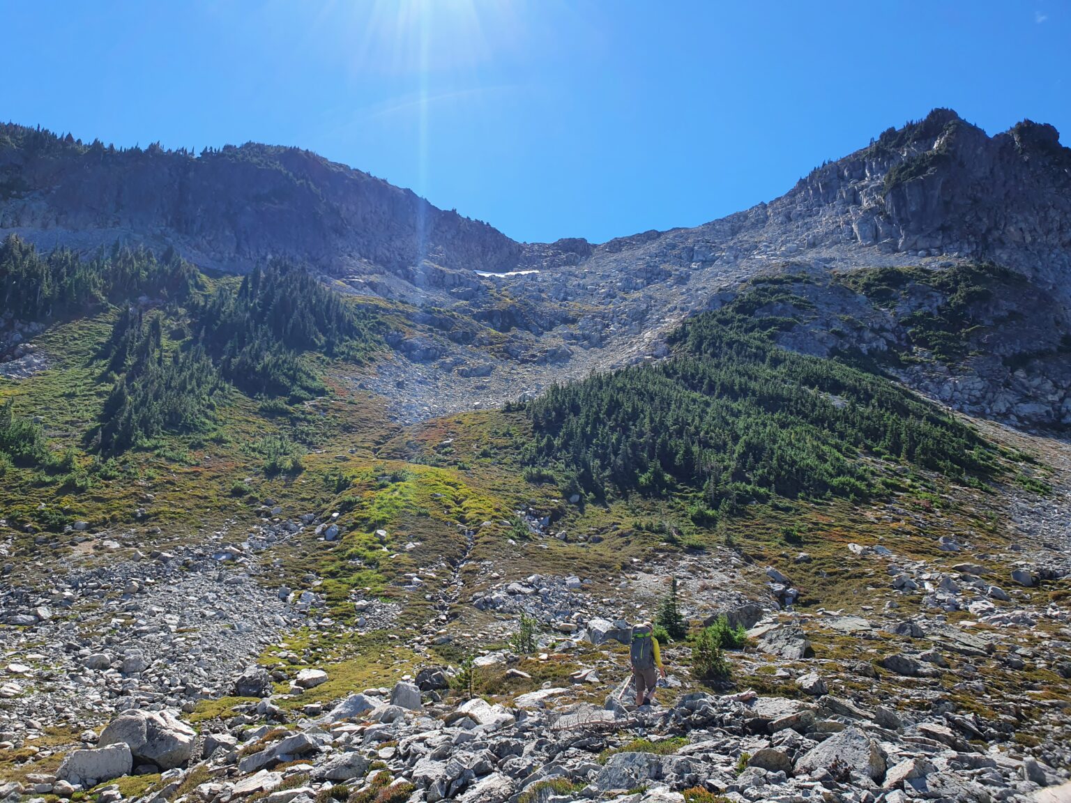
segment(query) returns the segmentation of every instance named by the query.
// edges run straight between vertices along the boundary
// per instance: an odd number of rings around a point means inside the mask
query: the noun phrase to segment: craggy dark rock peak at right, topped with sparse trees
[[[818,168],[771,204],[782,218],[806,210],[825,218],[814,240],[850,228],[860,245],[984,257],[1066,286],[1071,150],[1051,125],[1027,120],[989,137],[935,109]]]

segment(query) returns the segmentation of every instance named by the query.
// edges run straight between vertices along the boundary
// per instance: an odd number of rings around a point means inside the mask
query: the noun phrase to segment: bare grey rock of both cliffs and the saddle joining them
[[[986,322],[970,361],[911,370],[906,381],[972,412],[1019,410],[1013,423],[1071,416],[1071,382],[1059,369],[1071,331],[1071,150],[1052,126],[1029,121],[989,137],[936,109],[770,203],[601,245],[516,243],[307,151],[120,152],[9,125],[0,130],[5,231],[45,247],[174,245],[227,270],[287,256],[356,292],[417,305],[423,335],[399,332],[397,359],[359,380],[410,419],[657,359],[684,317],[756,276],[994,262],[1027,286],[1002,299],[1007,308]],[[1038,349],[1012,323],[1035,319],[1039,297],[1049,303],[1035,329],[1052,337],[1042,338],[1049,357],[1032,359]],[[856,330],[860,343],[880,337]]]

